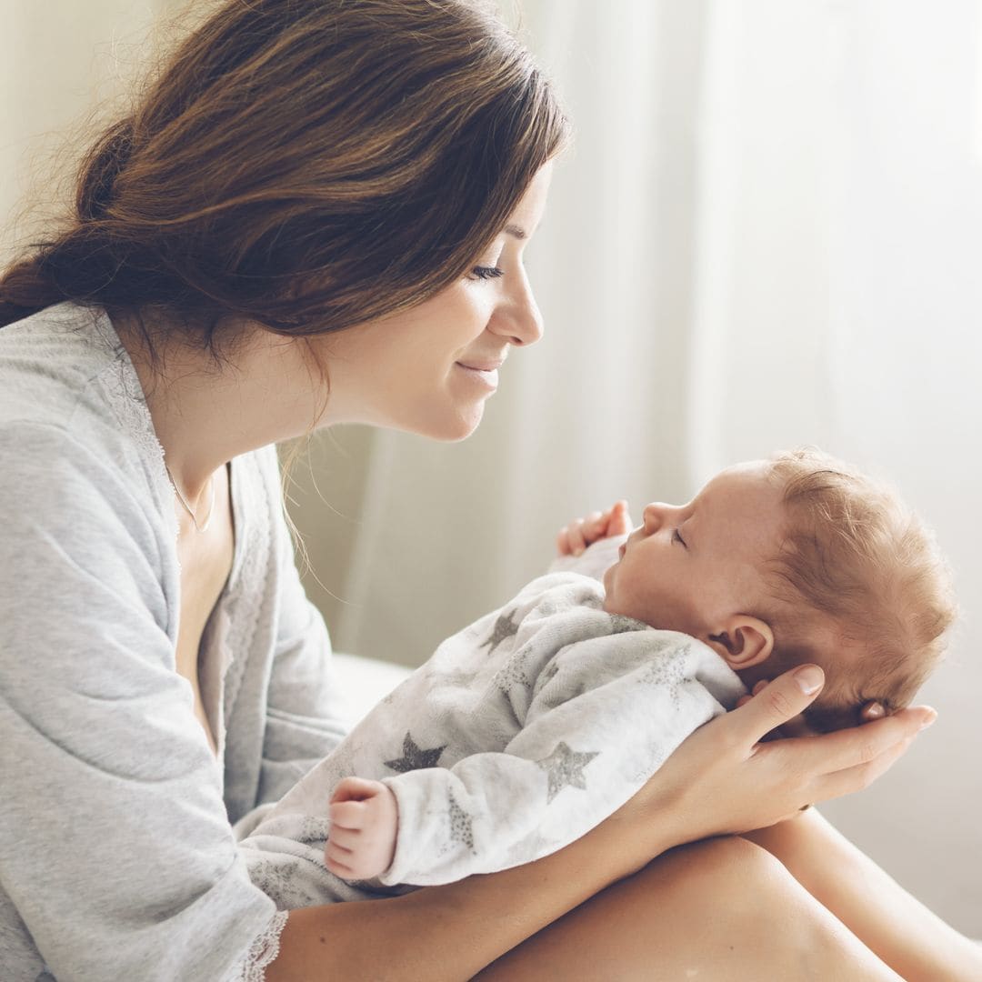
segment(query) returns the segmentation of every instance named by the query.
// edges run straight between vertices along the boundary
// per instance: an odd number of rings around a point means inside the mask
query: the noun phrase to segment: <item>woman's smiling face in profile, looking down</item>
[[[323,338],[331,395],[322,424],[364,422],[437,440],[473,432],[512,347],[542,336],[521,255],[551,177],[550,162],[464,279],[411,310]]]

